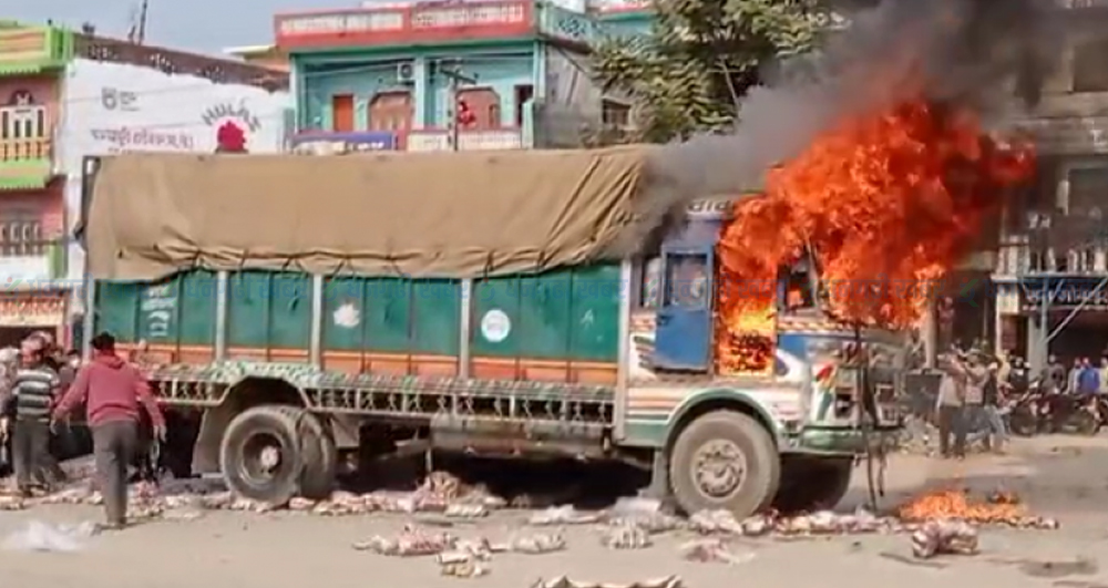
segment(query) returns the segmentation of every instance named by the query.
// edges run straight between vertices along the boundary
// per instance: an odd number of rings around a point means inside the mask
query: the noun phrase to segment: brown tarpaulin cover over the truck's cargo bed
[[[636,209],[648,154],[107,157],[84,223],[89,270],[115,280],[194,267],[462,278],[585,262],[658,220]]]

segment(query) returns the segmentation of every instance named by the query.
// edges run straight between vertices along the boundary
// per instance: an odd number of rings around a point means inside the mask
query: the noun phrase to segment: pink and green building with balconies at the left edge
[[[0,22],[0,344],[65,322],[64,179],[55,165],[73,35]]]

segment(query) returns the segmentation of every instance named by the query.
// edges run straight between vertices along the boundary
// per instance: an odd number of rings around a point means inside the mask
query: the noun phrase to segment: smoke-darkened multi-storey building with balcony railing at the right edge
[[[993,276],[996,347],[1036,365],[1108,349],[1108,1],[1063,7],[1063,66],[1022,121],[1038,140],[1037,183],[1008,212]]]

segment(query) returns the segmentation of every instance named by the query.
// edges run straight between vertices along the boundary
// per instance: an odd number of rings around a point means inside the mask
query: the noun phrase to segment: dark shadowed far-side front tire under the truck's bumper
[[[851,458],[827,458],[786,465],[773,507],[782,513],[830,510],[850,491]]]

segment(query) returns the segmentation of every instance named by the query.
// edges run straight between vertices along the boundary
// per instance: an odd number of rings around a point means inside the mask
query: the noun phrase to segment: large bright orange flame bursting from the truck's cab
[[[737,205],[719,243],[721,326],[735,332],[771,309],[778,268],[806,249],[833,316],[914,323],[929,288],[1033,168],[1027,144],[998,143],[964,110],[920,101],[843,121]]]

